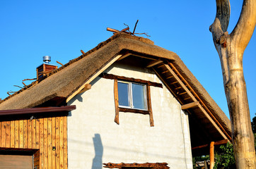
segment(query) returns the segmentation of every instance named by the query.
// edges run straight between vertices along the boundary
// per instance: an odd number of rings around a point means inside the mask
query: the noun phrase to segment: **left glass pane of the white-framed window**
[[[129,84],[118,82],[118,100],[120,106],[129,106]]]

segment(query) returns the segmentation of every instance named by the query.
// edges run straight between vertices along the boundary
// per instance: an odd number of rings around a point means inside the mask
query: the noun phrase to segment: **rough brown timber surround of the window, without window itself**
[[[110,74],[105,74],[105,75],[107,75],[107,77],[121,77],[121,76],[110,75]],[[108,75],[110,75],[110,76],[108,76]],[[124,80],[124,78],[127,78],[129,80],[129,82],[138,82],[137,79],[129,78],[129,77],[123,77],[122,76],[122,80]],[[112,79],[112,78],[107,78],[107,79]],[[135,109],[135,108],[122,108],[122,107],[119,106],[118,81],[117,80],[120,80],[120,79],[118,79],[118,78],[114,79],[115,123],[117,123],[117,125],[120,125],[120,121],[119,121],[119,113],[120,113],[120,111],[124,112],[124,113],[141,113],[141,114],[144,114],[144,115],[149,114],[150,126],[153,127],[154,123],[153,123],[153,113],[152,113],[152,108],[151,108],[150,85],[149,85],[149,83],[146,83],[146,82],[149,82],[149,81],[143,80],[144,83],[142,83],[142,84],[146,84],[146,102],[147,102],[148,110],[139,110],[139,109]],[[132,80],[136,80],[136,81],[132,81]],[[150,84],[152,84],[152,83],[154,83],[154,82],[151,82]]]

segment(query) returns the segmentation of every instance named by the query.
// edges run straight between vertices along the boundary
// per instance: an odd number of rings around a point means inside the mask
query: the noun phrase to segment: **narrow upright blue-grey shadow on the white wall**
[[[93,145],[95,156],[93,158],[92,169],[103,168],[103,143],[101,142],[100,134],[96,133],[93,137]]]

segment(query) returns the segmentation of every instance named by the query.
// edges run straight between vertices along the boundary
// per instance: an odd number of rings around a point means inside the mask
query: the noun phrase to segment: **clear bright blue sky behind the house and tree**
[[[243,1],[231,1],[228,32],[238,21]],[[221,64],[209,26],[216,4],[211,1],[0,1],[0,98],[18,91],[22,80],[36,77],[42,56],[67,63],[112,36],[106,28],[147,32],[156,45],[177,53],[228,115]],[[243,65],[251,118],[256,113],[256,35]],[[58,64],[57,64],[58,65]],[[30,82],[26,81],[26,84]],[[229,115],[228,115],[229,117]]]

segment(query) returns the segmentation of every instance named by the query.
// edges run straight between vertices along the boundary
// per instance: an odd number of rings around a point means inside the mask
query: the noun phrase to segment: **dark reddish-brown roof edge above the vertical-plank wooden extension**
[[[23,109],[11,109],[0,111],[0,115],[22,115],[30,113],[48,113],[48,112],[60,112],[60,111],[73,111],[76,106],[61,106],[61,107],[43,107],[43,108],[23,108]]]

